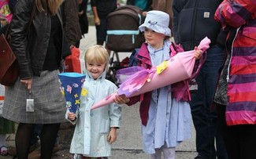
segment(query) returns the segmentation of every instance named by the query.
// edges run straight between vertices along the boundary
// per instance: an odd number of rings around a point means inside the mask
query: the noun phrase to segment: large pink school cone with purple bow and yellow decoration
[[[206,49],[210,47],[209,45],[210,39],[206,37],[202,39],[198,45],[198,49],[201,49],[202,52],[206,52]],[[113,103],[113,99],[116,95],[120,96],[124,94],[126,97],[138,96],[145,92],[150,92],[154,89],[159,89],[166,85],[191,78],[195,66],[194,54],[195,50],[179,52],[168,61],[161,63],[157,67],[152,67],[150,70],[138,69],[139,71],[122,82],[117,92],[95,103],[95,105],[91,107],[91,110]],[[131,68],[128,69],[132,70]]]

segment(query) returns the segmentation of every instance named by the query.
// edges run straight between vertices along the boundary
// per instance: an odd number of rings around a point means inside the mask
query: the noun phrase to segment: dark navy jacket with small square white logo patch
[[[226,33],[221,24],[214,20],[214,13],[222,0],[173,0],[173,35],[177,44],[185,50],[194,49],[195,45],[206,36],[210,45],[224,47]]]

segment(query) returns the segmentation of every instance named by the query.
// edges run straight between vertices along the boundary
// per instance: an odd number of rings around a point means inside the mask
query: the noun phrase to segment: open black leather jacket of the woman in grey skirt
[[[34,0],[17,1],[10,23],[11,46],[17,57],[21,79],[32,78],[33,75],[40,76],[50,39],[50,13],[39,13],[35,9],[32,24],[28,28],[33,7],[35,7]],[[62,24],[60,11],[58,18]],[[69,45],[63,30],[60,47],[62,58],[69,55]]]

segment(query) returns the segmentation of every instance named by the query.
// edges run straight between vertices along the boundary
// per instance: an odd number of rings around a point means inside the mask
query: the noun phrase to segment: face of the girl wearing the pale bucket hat
[[[147,27],[145,28],[144,31],[144,37],[147,43],[149,43],[154,49],[160,49],[165,40],[165,34],[152,31]]]

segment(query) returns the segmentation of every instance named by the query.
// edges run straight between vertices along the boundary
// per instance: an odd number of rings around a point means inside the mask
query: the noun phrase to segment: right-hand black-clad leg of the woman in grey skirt
[[[41,140],[41,158],[50,159],[53,154],[55,140],[58,136],[58,130],[61,124],[43,125],[40,135]],[[19,158],[20,159],[20,158]]]

